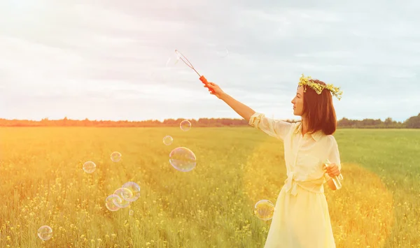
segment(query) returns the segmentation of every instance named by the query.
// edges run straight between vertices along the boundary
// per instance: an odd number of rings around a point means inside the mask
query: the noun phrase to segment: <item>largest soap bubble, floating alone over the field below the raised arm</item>
[[[193,170],[197,165],[196,159],[194,152],[186,147],[176,147],[169,154],[169,163],[183,172]]]

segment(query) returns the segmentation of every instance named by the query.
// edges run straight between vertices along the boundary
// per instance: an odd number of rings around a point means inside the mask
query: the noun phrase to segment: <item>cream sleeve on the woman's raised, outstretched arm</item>
[[[282,141],[292,126],[292,124],[288,122],[267,118],[264,114],[259,112],[255,112],[255,114],[249,118],[248,124],[256,129],[260,129],[269,136],[278,138]]]

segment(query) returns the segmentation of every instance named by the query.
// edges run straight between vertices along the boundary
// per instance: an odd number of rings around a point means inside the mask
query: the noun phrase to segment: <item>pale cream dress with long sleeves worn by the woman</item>
[[[334,237],[323,194],[329,179],[323,161],[341,170],[334,136],[322,131],[302,137],[300,122],[290,124],[255,112],[249,124],[282,140],[288,178],[276,201],[265,248],[333,248]]]

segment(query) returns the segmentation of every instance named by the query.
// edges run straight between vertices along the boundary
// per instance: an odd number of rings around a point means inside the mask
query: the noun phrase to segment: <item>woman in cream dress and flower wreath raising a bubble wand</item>
[[[337,125],[332,94],[341,99],[339,88],[302,75],[291,101],[293,114],[302,119],[291,124],[255,112],[213,82],[204,87],[248,124],[283,141],[288,178],[276,201],[265,248],[335,247],[323,184],[327,182],[335,190],[330,177],[338,176],[341,170],[337,142],[332,136]],[[326,159],[330,161],[328,168],[323,165]]]

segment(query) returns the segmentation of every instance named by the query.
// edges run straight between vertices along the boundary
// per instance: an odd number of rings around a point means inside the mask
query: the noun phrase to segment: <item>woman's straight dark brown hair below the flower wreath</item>
[[[325,85],[317,79],[312,79],[320,85]],[[307,115],[308,132],[315,133],[316,131],[323,131],[325,135],[330,135],[335,132],[337,128],[337,117],[335,116],[335,109],[332,105],[332,95],[328,89],[323,89],[321,94],[317,94],[314,89],[304,85],[303,97],[303,113]]]

